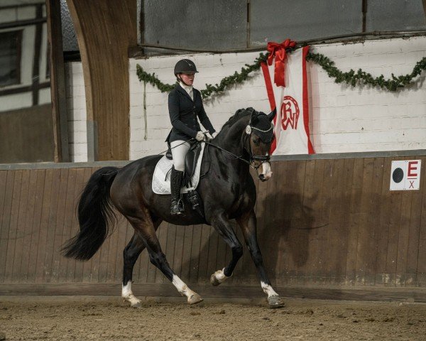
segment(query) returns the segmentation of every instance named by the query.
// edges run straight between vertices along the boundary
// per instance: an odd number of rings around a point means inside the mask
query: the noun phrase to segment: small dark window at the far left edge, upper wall
[[[0,32],[0,87],[21,82],[22,30]]]

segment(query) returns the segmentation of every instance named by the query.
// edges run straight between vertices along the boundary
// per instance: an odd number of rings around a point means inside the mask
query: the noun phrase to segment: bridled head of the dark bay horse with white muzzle
[[[272,176],[269,151],[275,138],[272,121],[276,113],[276,109],[270,114],[253,110],[249,124],[246,126],[246,134],[249,135],[250,161],[254,164],[261,181],[266,181]]]

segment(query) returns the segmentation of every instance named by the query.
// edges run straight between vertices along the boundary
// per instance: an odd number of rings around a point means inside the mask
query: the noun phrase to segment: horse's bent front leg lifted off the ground
[[[218,215],[214,215],[212,217],[211,223],[214,229],[217,230],[217,232],[224,239],[226,244],[229,245],[232,251],[232,259],[229,262],[228,266],[224,267],[224,269],[222,270],[217,270],[210,277],[210,283],[212,283],[213,286],[219,286],[219,284],[223,283],[226,278],[232,276],[232,272],[235,269],[236,263],[243,255],[243,247],[241,246],[241,243],[236,237],[231,222],[229,222],[223,212],[219,213]]]

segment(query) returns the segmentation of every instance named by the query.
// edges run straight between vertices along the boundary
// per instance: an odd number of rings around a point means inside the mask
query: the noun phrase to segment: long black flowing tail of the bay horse
[[[78,202],[80,232],[62,247],[64,256],[86,261],[107,239],[111,223],[116,222],[109,190],[118,169],[104,167],[89,178]]]

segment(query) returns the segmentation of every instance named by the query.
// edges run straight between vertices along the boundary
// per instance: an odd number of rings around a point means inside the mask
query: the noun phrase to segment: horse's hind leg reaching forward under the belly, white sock
[[[167,259],[160,247],[155,227],[148,210],[141,208],[142,214],[138,217],[127,217],[133,228],[135,229],[141,241],[148,249],[149,260],[173,283],[182,296],[187,297],[187,302],[190,304],[199,303],[202,301],[200,295],[192,291],[188,286],[170,269]],[[140,253],[140,252],[139,252]]]

